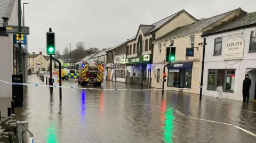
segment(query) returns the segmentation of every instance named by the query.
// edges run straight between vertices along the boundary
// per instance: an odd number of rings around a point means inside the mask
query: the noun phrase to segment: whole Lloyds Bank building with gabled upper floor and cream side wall
[[[167,32],[197,21],[185,10],[179,11],[151,25],[140,25],[137,34],[127,41],[126,83],[150,87],[153,41]]]

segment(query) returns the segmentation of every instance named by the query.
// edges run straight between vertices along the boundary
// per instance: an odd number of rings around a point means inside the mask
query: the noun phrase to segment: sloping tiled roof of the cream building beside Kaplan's
[[[167,38],[173,38],[173,37],[177,37],[177,36],[182,36],[182,35],[186,35],[188,33],[193,33],[196,31],[201,31],[202,29],[204,29],[205,27],[210,26],[212,23],[217,22],[218,20],[225,18],[227,15],[229,15],[230,13],[236,11],[238,9],[229,11],[229,12],[225,12],[219,15],[215,15],[212,16],[211,18],[207,18],[207,19],[203,19],[191,24],[188,24],[186,26],[183,27],[178,27],[174,30],[172,30],[169,33],[166,33],[164,36],[159,37],[157,40],[163,40],[163,39],[167,39]]]

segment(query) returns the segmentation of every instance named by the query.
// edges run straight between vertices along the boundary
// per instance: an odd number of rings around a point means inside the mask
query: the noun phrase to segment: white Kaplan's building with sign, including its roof
[[[251,79],[250,100],[256,82],[256,12],[247,13],[224,26],[207,32],[203,95],[215,96],[222,87],[222,98],[243,100],[245,74]]]

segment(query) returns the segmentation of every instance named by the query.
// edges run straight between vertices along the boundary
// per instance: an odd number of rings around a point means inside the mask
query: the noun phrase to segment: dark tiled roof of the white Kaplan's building
[[[205,33],[203,36],[227,30],[239,29],[241,27],[249,26],[251,24],[256,24],[256,12],[247,13],[243,16],[240,16],[239,18],[230,21],[217,29]]]

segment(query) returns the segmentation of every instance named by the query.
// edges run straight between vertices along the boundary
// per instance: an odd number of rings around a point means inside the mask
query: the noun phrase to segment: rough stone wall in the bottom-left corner
[[[1,117],[0,110],[0,142],[3,143],[17,143],[18,142],[18,128],[15,115],[9,117]]]

